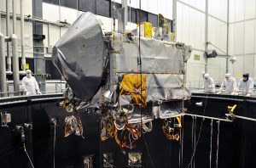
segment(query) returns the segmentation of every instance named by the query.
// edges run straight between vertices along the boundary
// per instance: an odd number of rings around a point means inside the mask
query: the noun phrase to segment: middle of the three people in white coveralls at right
[[[230,73],[225,74],[225,78],[222,81],[218,94],[222,92],[231,95],[235,95],[235,93],[237,92],[236,79],[234,77],[231,77]]]

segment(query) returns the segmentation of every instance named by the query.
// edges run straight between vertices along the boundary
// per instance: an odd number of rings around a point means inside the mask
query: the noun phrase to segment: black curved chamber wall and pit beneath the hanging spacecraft
[[[54,155],[55,167],[83,167],[83,157],[88,155],[93,155],[94,167],[103,167],[104,153],[112,153],[113,167],[122,168],[127,167],[127,153],[131,151],[143,153],[143,167],[147,168],[256,167],[255,122],[236,118],[232,122],[224,121],[227,106],[235,104],[236,115],[256,119],[256,98],[195,93],[186,102],[187,113],[211,116],[217,120],[184,115],[179,142],[166,138],[161,128],[163,120],[154,120],[153,131],[144,134],[137,147],[127,149],[126,154],[113,138],[104,142],[100,140],[100,115],[81,112],[84,138],[75,135],[64,137],[65,117],[72,114],[59,106],[61,99],[61,94],[0,98],[0,112],[7,112],[12,118],[9,127],[0,127],[1,168],[31,167],[22,148],[20,134],[14,131],[15,126],[23,123],[32,123],[33,126],[25,134],[26,148],[35,168],[54,167]],[[202,106],[196,103],[202,103]],[[57,120],[56,132],[51,118]]]

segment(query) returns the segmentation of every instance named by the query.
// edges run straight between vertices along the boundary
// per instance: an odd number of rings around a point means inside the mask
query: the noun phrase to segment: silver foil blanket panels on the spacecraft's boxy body
[[[146,74],[147,103],[160,100],[188,99],[191,94],[183,86],[184,62],[187,62],[191,47],[177,42],[166,42],[142,37],[140,40],[142,74]],[[110,55],[110,82],[119,84],[127,74],[139,74],[139,39],[113,32],[113,52]]]

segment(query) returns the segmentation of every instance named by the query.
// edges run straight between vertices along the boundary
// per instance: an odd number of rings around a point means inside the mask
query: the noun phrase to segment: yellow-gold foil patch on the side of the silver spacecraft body
[[[141,79],[143,82],[141,82]],[[141,87],[142,84],[142,87]],[[131,95],[131,103],[142,108],[147,106],[146,75],[127,74],[119,85],[120,95]],[[142,92],[141,92],[142,90]]]

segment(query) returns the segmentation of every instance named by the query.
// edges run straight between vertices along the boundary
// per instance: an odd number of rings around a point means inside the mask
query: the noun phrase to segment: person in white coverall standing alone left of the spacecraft
[[[26,70],[26,76],[22,79],[22,88],[25,95],[42,94],[38,87],[38,81],[32,76],[31,70]]]

